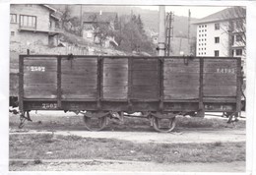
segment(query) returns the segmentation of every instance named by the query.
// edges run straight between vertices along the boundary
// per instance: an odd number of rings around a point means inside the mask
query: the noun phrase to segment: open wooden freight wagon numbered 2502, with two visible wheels
[[[160,132],[175,116],[241,110],[241,59],[20,55],[19,108],[83,113],[89,130],[141,112]]]

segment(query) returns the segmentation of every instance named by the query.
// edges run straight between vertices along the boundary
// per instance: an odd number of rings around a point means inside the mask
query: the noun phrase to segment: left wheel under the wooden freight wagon
[[[84,116],[85,126],[89,131],[100,131],[106,126],[106,116],[88,117]]]

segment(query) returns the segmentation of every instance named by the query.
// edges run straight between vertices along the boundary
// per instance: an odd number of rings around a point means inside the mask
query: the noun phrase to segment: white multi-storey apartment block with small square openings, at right
[[[197,25],[197,56],[246,55],[246,10],[226,8],[193,23]]]

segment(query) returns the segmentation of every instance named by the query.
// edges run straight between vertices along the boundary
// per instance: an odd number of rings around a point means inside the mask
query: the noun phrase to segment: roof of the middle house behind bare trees
[[[114,12],[85,12],[83,22],[113,22],[117,13]],[[94,17],[96,19],[94,20]]]

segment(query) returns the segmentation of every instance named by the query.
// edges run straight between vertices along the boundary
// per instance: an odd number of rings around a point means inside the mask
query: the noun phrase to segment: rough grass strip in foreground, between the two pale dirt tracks
[[[50,141],[50,142],[49,142]],[[10,135],[10,158],[118,159],[154,162],[230,162],[245,160],[245,143],[135,144],[77,136]],[[50,152],[50,153],[49,153]]]

